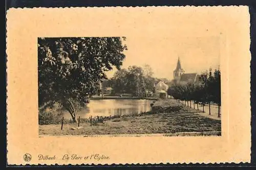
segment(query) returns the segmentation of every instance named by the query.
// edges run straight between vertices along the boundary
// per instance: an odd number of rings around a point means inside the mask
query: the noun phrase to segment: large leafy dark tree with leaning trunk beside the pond
[[[75,103],[94,95],[105,71],[120,69],[125,37],[38,38],[39,106],[60,103],[76,122]]]

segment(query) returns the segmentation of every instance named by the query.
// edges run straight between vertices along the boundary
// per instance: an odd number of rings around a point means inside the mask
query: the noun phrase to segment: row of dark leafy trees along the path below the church
[[[204,71],[200,75],[199,84],[175,84],[168,88],[168,95],[172,95],[174,99],[180,101],[194,101],[195,103],[209,104],[210,114],[210,103],[218,104],[219,116],[221,106],[221,71],[215,69],[214,71],[210,68]]]

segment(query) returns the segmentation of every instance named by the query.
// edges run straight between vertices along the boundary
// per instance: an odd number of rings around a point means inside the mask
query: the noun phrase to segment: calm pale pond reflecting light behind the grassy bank
[[[125,114],[140,114],[151,110],[152,100],[137,99],[108,99],[108,100],[91,100],[86,108],[77,112],[77,117],[89,118],[90,116],[114,116]],[[71,115],[67,112],[64,114],[65,119],[70,119]]]

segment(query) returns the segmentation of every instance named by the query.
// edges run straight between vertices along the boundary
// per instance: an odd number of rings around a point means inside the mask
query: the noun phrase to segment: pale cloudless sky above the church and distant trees
[[[154,71],[154,77],[173,79],[178,57],[185,73],[197,72],[220,65],[220,38],[218,36],[128,36],[124,43],[128,50],[121,68],[130,65],[148,64]],[[113,77],[117,69],[106,72]]]

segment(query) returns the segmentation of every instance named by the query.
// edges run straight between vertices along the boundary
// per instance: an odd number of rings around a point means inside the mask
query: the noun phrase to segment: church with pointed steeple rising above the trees
[[[185,73],[185,70],[181,67],[180,58],[178,58],[176,69],[173,71],[174,79],[168,83],[169,86],[173,86],[175,84],[198,84],[199,83],[199,75],[194,73]]]

